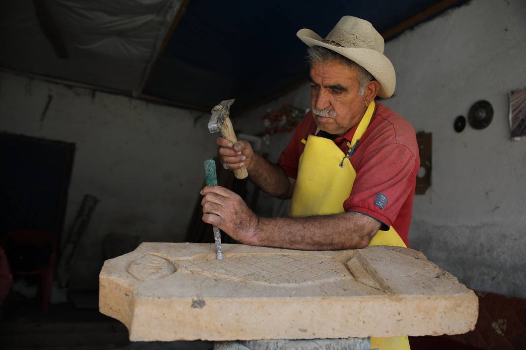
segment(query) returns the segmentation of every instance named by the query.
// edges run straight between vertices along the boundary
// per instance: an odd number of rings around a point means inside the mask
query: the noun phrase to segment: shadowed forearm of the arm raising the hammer
[[[247,171],[250,179],[268,195],[290,198],[292,194],[291,184],[287,174],[279,165],[272,164],[254,153]]]

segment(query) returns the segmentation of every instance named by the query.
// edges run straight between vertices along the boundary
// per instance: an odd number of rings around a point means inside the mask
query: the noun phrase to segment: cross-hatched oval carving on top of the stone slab
[[[271,284],[302,283],[350,277],[347,268],[332,257],[305,254],[248,254],[177,261],[179,272],[210,277],[248,280]]]

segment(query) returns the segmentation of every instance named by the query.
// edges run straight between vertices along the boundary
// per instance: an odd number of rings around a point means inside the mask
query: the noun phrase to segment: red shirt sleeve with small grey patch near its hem
[[[345,211],[358,211],[382,222],[387,230],[413,189],[415,158],[402,144],[388,144],[365,154],[345,202]]]

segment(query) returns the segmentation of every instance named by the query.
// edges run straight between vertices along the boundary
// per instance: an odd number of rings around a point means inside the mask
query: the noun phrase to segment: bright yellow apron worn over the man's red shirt
[[[356,149],[360,137],[365,133],[375,111],[375,101],[371,101],[363,115],[346,155],[332,140],[309,135],[305,150],[299,158],[298,177],[290,216],[313,216],[343,213],[343,202],[349,198],[356,171],[349,157]],[[378,231],[369,243],[370,246],[406,247],[397,231],[391,226],[388,231]],[[380,350],[409,350],[407,336],[377,338],[371,337],[371,348]]]

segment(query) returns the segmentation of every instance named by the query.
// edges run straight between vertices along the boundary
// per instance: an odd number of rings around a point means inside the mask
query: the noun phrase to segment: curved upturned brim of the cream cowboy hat
[[[355,61],[365,68],[380,83],[378,96],[387,99],[395,92],[396,74],[391,61],[380,52],[360,47],[339,47],[324,43],[314,31],[304,28],[298,30],[298,38],[309,47],[321,46]]]

